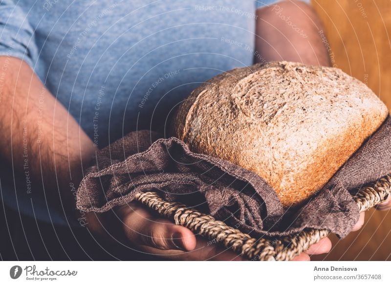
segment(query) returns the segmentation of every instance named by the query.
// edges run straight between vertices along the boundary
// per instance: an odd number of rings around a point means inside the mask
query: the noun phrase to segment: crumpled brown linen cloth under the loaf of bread
[[[157,191],[253,237],[280,237],[305,227],[345,237],[357,222],[355,189],[391,173],[391,118],[304,205],[283,209],[259,175],[228,161],[193,153],[176,138],[131,132],[99,151],[77,192],[77,207],[105,212],[139,191]]]

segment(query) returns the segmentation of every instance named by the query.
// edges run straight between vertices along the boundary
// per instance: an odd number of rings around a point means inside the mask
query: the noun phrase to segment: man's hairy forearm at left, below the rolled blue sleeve
[[[95,151],[91,139],[26,63],[1,56],[0,70],[1,159],[18,175],[15,179],[27,170],[32,187],[45,187],[48,197],[60,191],[71,210],[69,183],[77,187],[80,182]]]

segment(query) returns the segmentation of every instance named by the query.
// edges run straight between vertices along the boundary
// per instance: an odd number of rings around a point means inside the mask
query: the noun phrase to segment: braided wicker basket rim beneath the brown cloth
[[[390,192],[391,174],[360,188],[354,200],[360,212],[363,212],[386,200]],[[257,240],[222,221],[215,220],[210,215],[189,209],[179,203],[165,201],[154,192],[138,193],[135,198],[160,215],[173,220],[175,224],[183,225],[195,234],[216,241],[249,260],[288,261],[330,233],[328,230],[306,228],[298,234],[285,236],[277,242],[265,238]]]

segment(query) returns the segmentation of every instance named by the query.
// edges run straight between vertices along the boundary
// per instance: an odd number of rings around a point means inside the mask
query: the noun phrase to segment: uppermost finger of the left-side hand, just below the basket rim
[[[174,225],[167,219],[156,219],[144,207],[129,206],[131,209],[126,209],[123,226],[128,239],[134,244],[161,250],[189,251],[195,248],[196,239],[191,230]]]

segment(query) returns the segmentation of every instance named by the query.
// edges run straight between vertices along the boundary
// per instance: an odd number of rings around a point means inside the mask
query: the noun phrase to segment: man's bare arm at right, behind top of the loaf
[[[286,60],[329,66],[315,11],[302,1],[280,1],[257,10],[256,61]]]

